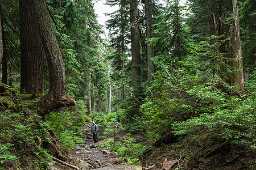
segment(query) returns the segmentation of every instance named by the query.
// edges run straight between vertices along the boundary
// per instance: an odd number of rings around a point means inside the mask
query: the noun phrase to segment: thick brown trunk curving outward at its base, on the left
[[[55,34],[51,19],[49,16],[47,3],[45,0],[33,0],[38,5],[37,18],[40,26],[40,36],[46,52],[47,63],[50,75],[50,88],[44,104],[43,114],[47,114],[56,107],[65,89],[65,69],[63,59],[60,53],[59,45]]]

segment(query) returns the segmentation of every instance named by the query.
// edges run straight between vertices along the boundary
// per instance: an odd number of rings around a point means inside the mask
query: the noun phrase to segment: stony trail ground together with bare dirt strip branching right
[[[76,145],[76,148],[69,152],[67,162],[72,165],[76,165],[75,160],[78,158],[82,161],[85,161],[89,165],[89,169],[142,169],[141,165],[131,165],[129,163],[120,163],[117,153],[112,151],[112,148],[108,147],[99,147],[101,143],[108,141],[114,137],[108,137],[101,140],[101,134],[99,133],[99,140],[97,143],[93,142],[92,135],[90,135],[90,123],[86,123],[82,127],[82,135],[84,135],[84,143]],[[119,131],[115,133],[115,140],[118,141],[123,137],[130,137],[137,139],[138,142],[147,142],[148,139],[138,134],[129,134],[124,131]],[[72,168],[67,167],[66,165],[56,163],[55,167],[59,170],[70,170]]]

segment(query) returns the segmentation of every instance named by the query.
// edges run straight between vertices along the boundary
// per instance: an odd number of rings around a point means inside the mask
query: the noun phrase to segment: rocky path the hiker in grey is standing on
[[[140,165],[130,165],[129,163],[120,164],[115,152],[109,148],[101,148],[99,145],[106,142],[109,139],[99,140],[97,143],[93,142],[93,138],[90,135],[90,124],[85,125],[82,128],[85,136],[84,143],[76,145],[76,148],[69,152],[68,162],[82,170],[86,169],[100,169],[100,170],[118,170],[118,169],[142,169]],[[119,132],[117,137],[123,137],[126,133]],[[101,135],[99,135],[101,137]],[[130,137],[130,136],[129,136]],[[135,137],[135,136],[134,136]],[[100,138],[99,138],[100,139]],[[73,168],[60,163],[55,164],[54,170],[70,170]],[[53,170],[53,169],[51,169]]]

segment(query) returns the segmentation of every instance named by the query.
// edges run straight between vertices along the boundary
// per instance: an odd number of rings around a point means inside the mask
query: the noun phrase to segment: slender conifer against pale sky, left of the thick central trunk
[[[110,32],[110,42],[112,42],[111,47],[115,49],[113,53],[108,56],[108,59],[112,59],[115,80],[118,84],[121,82],[119,86],[122,89],[121,100],[124,101],[125,81],[127,81],[127,76],[125,75],[128,55],[127,48],[129,48],[130,44],[129,2],[123,0],[107,1],[106,5],[119,5],[117,11],[114,11],[112,14],[108,14],[110,19],[107,21],[107,28]]]

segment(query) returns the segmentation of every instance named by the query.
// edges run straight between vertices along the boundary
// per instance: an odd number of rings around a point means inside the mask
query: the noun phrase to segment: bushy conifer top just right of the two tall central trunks
[[[156,65],[169,63],[177,68],[177,61],[182,61],[188,54],[187,32],[184,24],[184,7],[179,0],[167,1],[167,6],[160,10],[157,16],[155,37],[151,39],[158,55],[154,58]],[[157,62],[160,62],[159,64]]]

